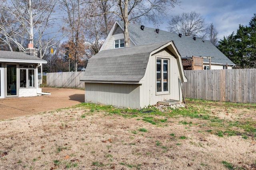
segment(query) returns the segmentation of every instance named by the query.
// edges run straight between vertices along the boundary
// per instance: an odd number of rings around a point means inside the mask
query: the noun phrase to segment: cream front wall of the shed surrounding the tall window
[[[156,95],[156,58],[168,57],[170,59],[170,94]],[[178,69],[177,59],[167,51],[161,51],[150,57],[145,76],[143,78],[144,84],[140,87],[140,103],[141,107],[148,105],[155,105],[158,101],[164,101],[168,99],[182,101],[182,92],[179,89],[178,77],[180,72]],[[181,77],[181,76],[180,76]]]

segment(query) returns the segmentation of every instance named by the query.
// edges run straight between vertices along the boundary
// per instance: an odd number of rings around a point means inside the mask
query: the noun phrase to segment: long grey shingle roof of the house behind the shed
[[[113,32],[114,29],[116,29],[118,26],[124,30],[123,23],[118,21],[113,26]],[[190,36],[182,35],[179,37],[178,34],[166,32],[163,30],[160,30],[158,33],[156,33],[156,29],[149,27],[144,27],[144,30],[141,30],[140,26],[136,24],[129,24],[129,37],[135,45],[173,41],[182,58],[190,57],[192,55],[212,57],[211,63],[228,63],[228,65],[235,65],[210,41],[202,40],[201,38],[196,38],[196,40],[194,40]],[[204,62],[208,63],[209,60],[204,59]]]

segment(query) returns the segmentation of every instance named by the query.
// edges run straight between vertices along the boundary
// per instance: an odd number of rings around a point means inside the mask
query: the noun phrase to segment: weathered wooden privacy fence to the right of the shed
[[[184,96],[192,99],[256,103],[256,69],[184,70]]]

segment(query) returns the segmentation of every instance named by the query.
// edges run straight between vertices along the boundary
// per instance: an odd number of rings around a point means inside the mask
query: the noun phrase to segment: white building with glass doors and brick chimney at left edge
[[[0,51],[0,98],[42,94],[38,66],[47,61],[36,57],[37,49],[27,48],[26,53]]]

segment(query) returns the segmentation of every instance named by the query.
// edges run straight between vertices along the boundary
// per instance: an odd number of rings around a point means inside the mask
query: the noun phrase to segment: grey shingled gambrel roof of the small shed
[[[148,45],[103,50],[91,57],[86,67],[86,74],[80,79],[84,82],[119,82],[136,83],[144,77],[149,57],[165,47],[172,47],[173,53],[181,58],[173,42],[158,42]],[[180,69],[182,80],[186,79],[183,69]]]

